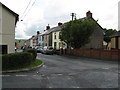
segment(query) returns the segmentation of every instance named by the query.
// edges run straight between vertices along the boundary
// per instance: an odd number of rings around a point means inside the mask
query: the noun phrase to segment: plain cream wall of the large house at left
[[[2,30],[0,45],[7,45],[8,53],[15,52],[15,16],[2,7]]]

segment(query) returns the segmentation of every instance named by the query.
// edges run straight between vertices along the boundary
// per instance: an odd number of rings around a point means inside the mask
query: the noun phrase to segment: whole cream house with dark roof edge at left
[[[19,15],[0,2],[0,53],[15,52],[15,26]]]

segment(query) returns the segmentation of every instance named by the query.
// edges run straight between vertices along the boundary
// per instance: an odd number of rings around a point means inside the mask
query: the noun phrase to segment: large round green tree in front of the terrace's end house
[[[92,19],[77,19],[69,21],[62,26],[61,41],[68,47],[80,48],[89,43],[89,37],[96,28],[96,22]]]

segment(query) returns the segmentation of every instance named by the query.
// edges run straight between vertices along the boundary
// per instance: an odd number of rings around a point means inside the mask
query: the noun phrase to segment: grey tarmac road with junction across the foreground
[[[38,54],[43,67],[2,75],[3,88],[117,88],[118,64],[73,56]]]

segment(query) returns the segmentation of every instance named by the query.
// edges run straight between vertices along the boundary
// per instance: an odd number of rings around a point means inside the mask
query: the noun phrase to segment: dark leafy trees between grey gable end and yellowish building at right
[[[116,29],[104,29],[103,30],[105,35],[104,35],[104,41],[109,43],[111,41],[111,36],[117,32]]]

